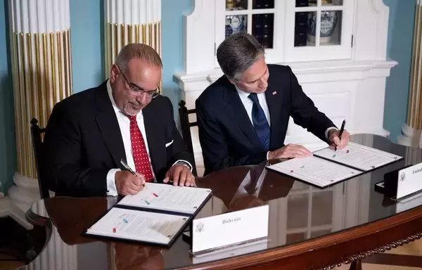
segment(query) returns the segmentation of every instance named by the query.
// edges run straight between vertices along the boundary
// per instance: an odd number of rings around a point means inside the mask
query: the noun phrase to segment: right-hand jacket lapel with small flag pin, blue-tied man
[[[268,87],[265,91],[265,98],[267,99],[269,119],[271,120],[271,131],[269,137],[269,147],[271,148],[271,146],[274,146],[274,143],[280,139],[276,134],[276,125],[280,122],[282,98],[281,89],[275,89],[274,87],[271,87],[271,79],[268,80]]]

